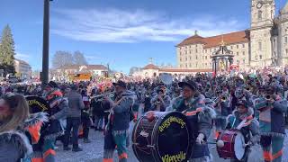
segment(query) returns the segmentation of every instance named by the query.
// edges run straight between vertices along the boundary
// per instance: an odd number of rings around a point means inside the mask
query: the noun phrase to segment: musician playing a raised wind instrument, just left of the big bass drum
[[[111,98],[104,100],[111,105],[109,122],[105,128],[103,162],[112,162],[115,147],[120,162],[127,162],[127,143],[129,136],[130,108],[134,103],[134,96],[127,91],[126,84],[119,80],[115,87],[115,102]]]

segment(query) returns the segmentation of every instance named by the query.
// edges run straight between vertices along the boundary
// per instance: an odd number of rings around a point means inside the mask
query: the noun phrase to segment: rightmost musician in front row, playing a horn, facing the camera
[[[266,87],[266,96],[256,103],[259,111],[260,144],[266,162],[281,162],[284,147],[285,120],[287,102],[275,94],[275,87]],[[272,148],[272,153],[271,153]]]

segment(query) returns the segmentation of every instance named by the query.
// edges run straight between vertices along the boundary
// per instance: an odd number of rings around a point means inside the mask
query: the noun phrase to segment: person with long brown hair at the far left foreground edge
[[[23,124],[28,118],[22,95],[9,93],[0,100],[0,161],[30,161],[32,148]]]

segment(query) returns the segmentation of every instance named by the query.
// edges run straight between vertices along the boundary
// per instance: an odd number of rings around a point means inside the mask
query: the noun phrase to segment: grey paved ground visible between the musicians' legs
[[[130,128],[132,128],[132,124]],[[288,133],[288,130],[287,130]],[[83,152],[74,153],[72,151],[63,151],[61,144],[58,142],[58,151],[57,151],[57,161],[58,162],[101,162],[103,157],[103,132],[91,130],[90,137],[92,143],[83,144],[82,139],[79,140],[81,148],[84,148]],[[288,162],[288,139],[284,141],[284,162]],[[216,148],[214,145],[210,146],[211,154],[213,156],[213,161],[215,162],[226,162],[229,160],[224,160],[218,157]],[[250,155],[249,162],[259,162],[263,161],[262,159],[262,150],[259,146],[255,146]],[[117,155],[114,155],[114,161],[117,160]],[[138,160],[133,155],[133,151],[130,148],[129,151],[129,162],[137,162]]]

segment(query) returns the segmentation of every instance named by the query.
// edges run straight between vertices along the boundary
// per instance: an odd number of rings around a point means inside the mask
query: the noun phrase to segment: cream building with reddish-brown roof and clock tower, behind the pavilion
[[[211,55],[225,42],[234,54],[234,63],[249,67],[285,66],[288,64],[288,3],[275,17],[275,0],[251,0],[251,26],[212,37],[195,31],[192,37],[176,46],[180,68],[211,68]]]

